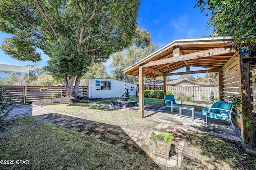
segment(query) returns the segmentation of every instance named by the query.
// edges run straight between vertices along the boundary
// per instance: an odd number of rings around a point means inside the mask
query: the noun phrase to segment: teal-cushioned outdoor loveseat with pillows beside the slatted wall
[[[221,119],[226,120],[231,123],[231,125],[234,127],[234,124],[231,120],[231,114],[234,113],[232,111],[234,105],[232,105],[231,102],[224,102],[219,100],[218,102],[212,104],[210,108],[203,108],[202,114],[206,116],[206,125],[207,125],[207,118],[214,118],[214,119]]]

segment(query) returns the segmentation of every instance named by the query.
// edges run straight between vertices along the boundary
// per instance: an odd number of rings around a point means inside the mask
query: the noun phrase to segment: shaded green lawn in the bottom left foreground
[[[160,169],[144,152],[128,152],[31,116],[1,123],[0,160],[29,164],[1,164],[0,169]]]

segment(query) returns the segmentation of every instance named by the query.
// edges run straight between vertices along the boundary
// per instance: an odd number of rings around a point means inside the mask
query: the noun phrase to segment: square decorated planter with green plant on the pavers
[[[172,133],[160,132],[158,135],[154,132],[151,133],[150,141],[154,154],[159,154],[169,158],[170,148],[172,145]]]

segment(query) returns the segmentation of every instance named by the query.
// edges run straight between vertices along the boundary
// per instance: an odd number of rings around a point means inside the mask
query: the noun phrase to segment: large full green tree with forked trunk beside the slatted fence
[[[12,35],[1,45],[10,57],[40,61],[63,77],[66,96],[77,96],[82,74],[132,42],[140,0],[2,0],[0,31]],[[75,86],[73,88],[73,84]]]

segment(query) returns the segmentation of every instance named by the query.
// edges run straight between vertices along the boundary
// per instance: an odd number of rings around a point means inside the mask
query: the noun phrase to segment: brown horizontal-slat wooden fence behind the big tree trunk
[[[11,98],[14,104],[26,104],[38,100],[50,99],[52,94],[56,97],[64,97],[66,95],[65,86],[44,86],[46,91],[40,91],[42,86],[2,86],[7,92],[2,94],[4,98]],[[78,96],[87,97],[87,86],[79,86]]]

